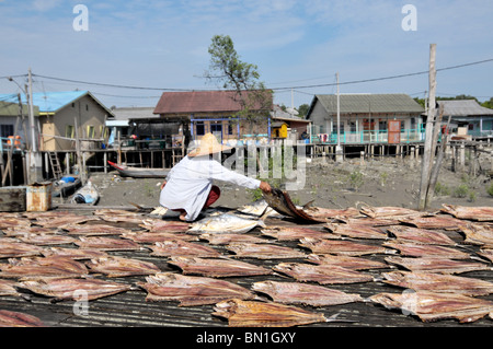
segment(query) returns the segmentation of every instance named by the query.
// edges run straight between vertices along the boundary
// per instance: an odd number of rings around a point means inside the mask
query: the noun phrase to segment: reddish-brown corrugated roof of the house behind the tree
[[[249,92],[243,92],[249,93]],[[193,114],[239,112],[236,91],[163,92],[154,114]]]

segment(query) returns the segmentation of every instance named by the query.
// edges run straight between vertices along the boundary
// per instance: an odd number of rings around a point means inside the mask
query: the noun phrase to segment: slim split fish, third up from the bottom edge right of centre
[[[274,266],[273,270],[285,274],[298,281],[312,281],[320,284],[357,283],[374,280],[374,277],[368,274],[333,265],[280,263]]]

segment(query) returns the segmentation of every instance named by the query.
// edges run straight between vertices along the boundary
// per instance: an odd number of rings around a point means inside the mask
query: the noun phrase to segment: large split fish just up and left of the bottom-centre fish
[[[253,300],[255,294],[233,282],[206,277],[159,272],[137,282],[148,294],[146,301],[179,301],[179,306],[216,304],[230,299]]]

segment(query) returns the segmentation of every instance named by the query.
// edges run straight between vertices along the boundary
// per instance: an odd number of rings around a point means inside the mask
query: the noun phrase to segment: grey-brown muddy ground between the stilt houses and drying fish
[[[309,160],[310,161],[310,160]],[[493,196],[488,193],[492,178],[491,160],[480,159],[480,173],[472,175],[471,164],[463,172],[452,172],[448,159],[442,166],[438,186],[439,193],[431,203],[429,210],[438,209],[443,203],[462,206],[492,206]],[[289,190],[297,205],[313,201],[312,205],[324,208],[348,208],[369,206],[397,206],[417,208],[421,183],[421,162],[400,158],[376,158],[362,165],[359,159],[347,159],[343,163],[317,158],[306,165],[303,187]],[[152,208],[159,206],[159,178],[125,178],[116,172],[91,173],[90,177],[100,190],[99,206],[131,206],[137,203]],[[273,186],[283,187],[293,179],[267,179]],[[260,197],[259,190],[219,183],[221,197],[213,207],[238,208]]]

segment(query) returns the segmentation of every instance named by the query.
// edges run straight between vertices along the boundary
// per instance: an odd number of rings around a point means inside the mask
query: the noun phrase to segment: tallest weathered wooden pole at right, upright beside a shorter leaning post
[[[429,184],[429,159],[432,156],[433,149],[433,126],[435,120],[435,92],[436,92],[436,44],[429,46],[429,98],[428,98],[428,113],[426,118],[426,131],[425,131],[425,146],[421,170],[421,184],[420,184],[420,201],[417,208],[420,210],[426,209],[426,194]]]

